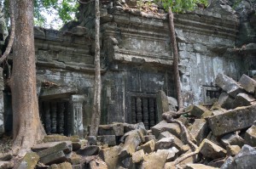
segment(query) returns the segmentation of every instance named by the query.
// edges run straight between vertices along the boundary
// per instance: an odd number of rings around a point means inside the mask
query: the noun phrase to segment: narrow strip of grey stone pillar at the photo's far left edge
[[[3,107],[3,89],[4,89],[4,83],[3,83],[3,69],[0,67],[0,135],[4,132],[4,119],[3,119],[3,113],[4,113],[4,107]]]

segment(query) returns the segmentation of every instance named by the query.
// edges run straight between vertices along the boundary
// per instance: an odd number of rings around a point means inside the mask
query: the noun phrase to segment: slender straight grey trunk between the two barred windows
[[[100,4],[99,0],[95,0],[95,86],[94,101],[90,124],[90,136],[97,136],[98,128],[101,121],[101,60],[100,60]]]

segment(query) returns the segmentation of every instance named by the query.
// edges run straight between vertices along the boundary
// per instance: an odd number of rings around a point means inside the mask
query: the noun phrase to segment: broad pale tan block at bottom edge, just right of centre
[[[143,161],[144,169],[163,169],[166,164],[168,153],[166,151],[157,151],[146,155]]]

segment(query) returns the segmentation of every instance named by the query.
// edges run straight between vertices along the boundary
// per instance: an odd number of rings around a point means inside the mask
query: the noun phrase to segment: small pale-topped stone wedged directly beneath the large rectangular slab
[[[244,139],[241,138],[238,134],[235,133],[228,133],[225,134],[220,139],[221,144],[223,144],[225,147],[228,145],[239,145],[242,146],[244,144]]]

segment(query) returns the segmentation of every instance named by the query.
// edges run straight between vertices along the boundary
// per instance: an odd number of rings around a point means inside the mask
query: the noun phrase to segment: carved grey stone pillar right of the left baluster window
[[[70,110],[71,112],[71,133],[72,135],[79,135],[80,138],[84,138],[83,127],[83,95],[72,95],[70,98]]]

